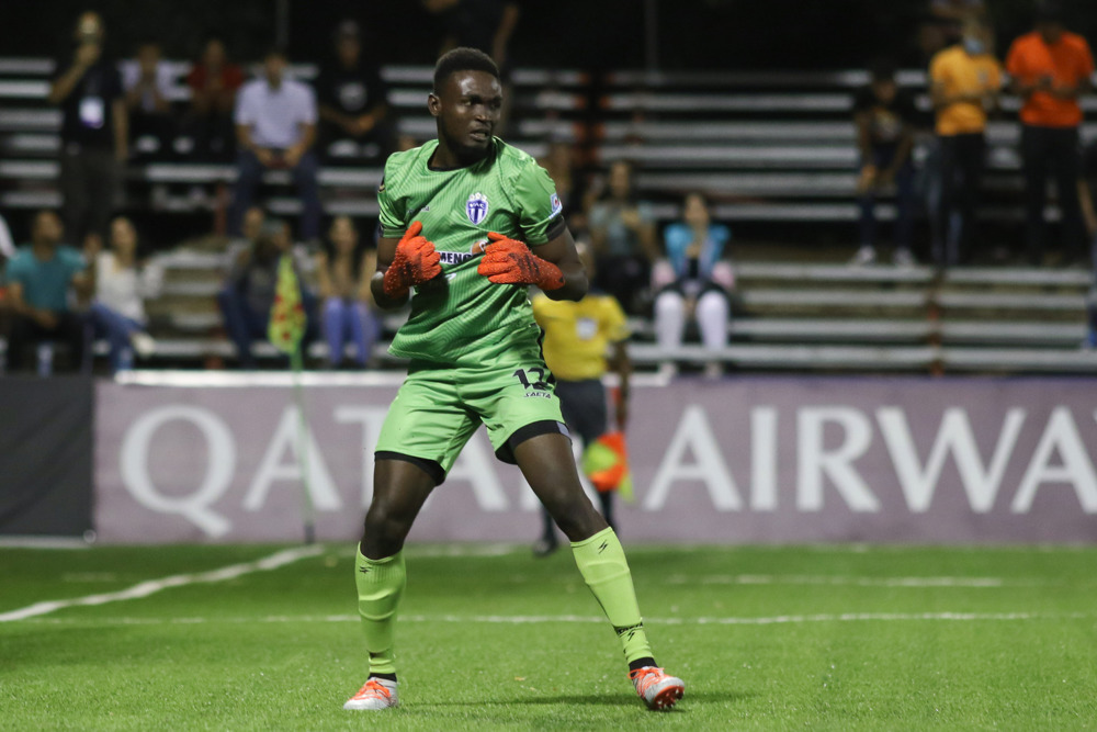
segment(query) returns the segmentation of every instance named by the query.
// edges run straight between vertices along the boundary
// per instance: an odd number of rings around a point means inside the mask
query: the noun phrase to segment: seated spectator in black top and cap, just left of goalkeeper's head
[[[324,154],[332,159],[387,157],[394,146],[387,93],[381,65],[362,52],[358,23],[343,21],[336,29],[332,58],[316,79]]]

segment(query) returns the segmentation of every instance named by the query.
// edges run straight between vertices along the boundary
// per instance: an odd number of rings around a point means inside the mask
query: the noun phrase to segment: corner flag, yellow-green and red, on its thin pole
[[[301,302],[301,283],[293,269],[291,255],[282,255],[278,267],[274,305],[271,307],[267,336],[278,350],[290,356],[293,374],[293,395],[297,408],[297,454],[301,455],[301,520],[305,528],[305,543],[316,541],[316,511],[309,491],[308,475],[308,419],[305,416],[305,390],[301,385],[303,369],[301,341],[305,337],[305,306]]]

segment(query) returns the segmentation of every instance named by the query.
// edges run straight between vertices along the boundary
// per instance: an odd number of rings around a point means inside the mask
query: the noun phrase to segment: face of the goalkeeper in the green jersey
[[[439,135],[466,159],[487,153],[501,108],[502,86],[486,71],[455,71],[428,100]]]

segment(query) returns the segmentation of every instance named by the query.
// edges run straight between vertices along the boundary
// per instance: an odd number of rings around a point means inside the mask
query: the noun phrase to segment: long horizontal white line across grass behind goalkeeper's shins
[[[1085,612],[841,612],[821,615],[780,615],[770,617],[701,617],[701,618],[645,618],[651,626],[781,626],[822,622],[1000,622],[1017,620],[1086,620],[1094,616]],[[265,616],[260,618],[35,618],[30,622],[53,626],[193,626],[204,623],[340,623],[358,622],[357,615],[328,616]],[[577,615],[406,615],[399,622],[421,623],[485,623],[485,624],[546,624],[585,623],[603,624],[600,616]]]

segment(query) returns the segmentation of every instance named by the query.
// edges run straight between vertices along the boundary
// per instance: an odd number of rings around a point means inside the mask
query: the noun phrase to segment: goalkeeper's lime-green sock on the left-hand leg
[[[383,560],[371,560],[358,550],[354,562],[354,584],[358,585],[358,613],[362,616],[365,647],[370,652],[371,674],[395,674],[396,655],[393,652],[393,631],[396,626],[396,607],[400,604],[407,572],[404,552]]]

